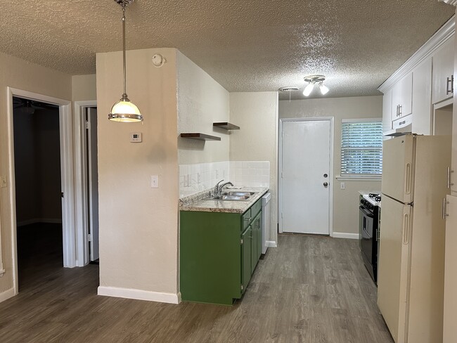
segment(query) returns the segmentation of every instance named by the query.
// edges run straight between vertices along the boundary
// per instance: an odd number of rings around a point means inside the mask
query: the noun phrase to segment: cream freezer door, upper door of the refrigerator
[[[382,143],[382,194],[400,202],[413,202],[413,152],[412,135],[399,136]]]

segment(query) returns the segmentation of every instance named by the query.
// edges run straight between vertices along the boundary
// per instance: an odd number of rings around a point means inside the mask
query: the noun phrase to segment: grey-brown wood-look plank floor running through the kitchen
[[[42,268],[0,304],[1,343],[393,342],[356,240],[279,235],[233,306],[101,297],[97,265]]]

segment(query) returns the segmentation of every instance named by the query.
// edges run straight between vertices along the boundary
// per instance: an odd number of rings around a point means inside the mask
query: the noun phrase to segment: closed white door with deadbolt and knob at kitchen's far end
[[[281,228],[330,233],[330,120],[283,122]]]

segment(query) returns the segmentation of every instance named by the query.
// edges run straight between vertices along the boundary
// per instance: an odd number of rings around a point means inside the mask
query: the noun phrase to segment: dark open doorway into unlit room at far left
[[[19,287],[63,267],[57,105],[13,97]]]

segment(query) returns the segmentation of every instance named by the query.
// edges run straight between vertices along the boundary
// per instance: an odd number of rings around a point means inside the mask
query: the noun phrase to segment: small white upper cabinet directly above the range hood
[[[413,74],[409,73],[392,87],[392,120],[411,115]]]

